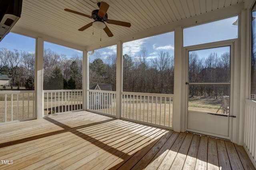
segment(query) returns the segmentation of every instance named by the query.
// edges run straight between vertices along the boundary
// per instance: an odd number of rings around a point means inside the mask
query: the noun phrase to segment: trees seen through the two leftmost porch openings
[[[82,59],[67,58],[51,49],[44,49],[44,89],[82,89]],[[0,49],[0,73],[8,75],[10,84],[34,89],[35,53]]]

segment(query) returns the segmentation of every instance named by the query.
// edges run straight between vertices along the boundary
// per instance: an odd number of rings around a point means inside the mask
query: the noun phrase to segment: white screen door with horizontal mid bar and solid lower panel
[[[187,131],[230,140],[231,47],[186,50]]]

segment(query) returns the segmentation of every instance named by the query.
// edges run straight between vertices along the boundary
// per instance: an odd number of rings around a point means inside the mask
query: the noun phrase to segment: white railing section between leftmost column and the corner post
[[[44,90],[44,115],[82,110],[82,90]]]

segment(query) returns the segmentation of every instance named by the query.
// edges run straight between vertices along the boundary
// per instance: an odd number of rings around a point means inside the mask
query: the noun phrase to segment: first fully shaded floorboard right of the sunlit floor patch
[[[216,139],[219,166],[224,170],[231,170],[231,165],[228,158],[225,142],[221,139]]]

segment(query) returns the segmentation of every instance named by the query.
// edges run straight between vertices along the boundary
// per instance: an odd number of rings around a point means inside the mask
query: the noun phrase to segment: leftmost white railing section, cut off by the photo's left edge
[[[35,117],[34,91],[0,91],[0,123]]]

